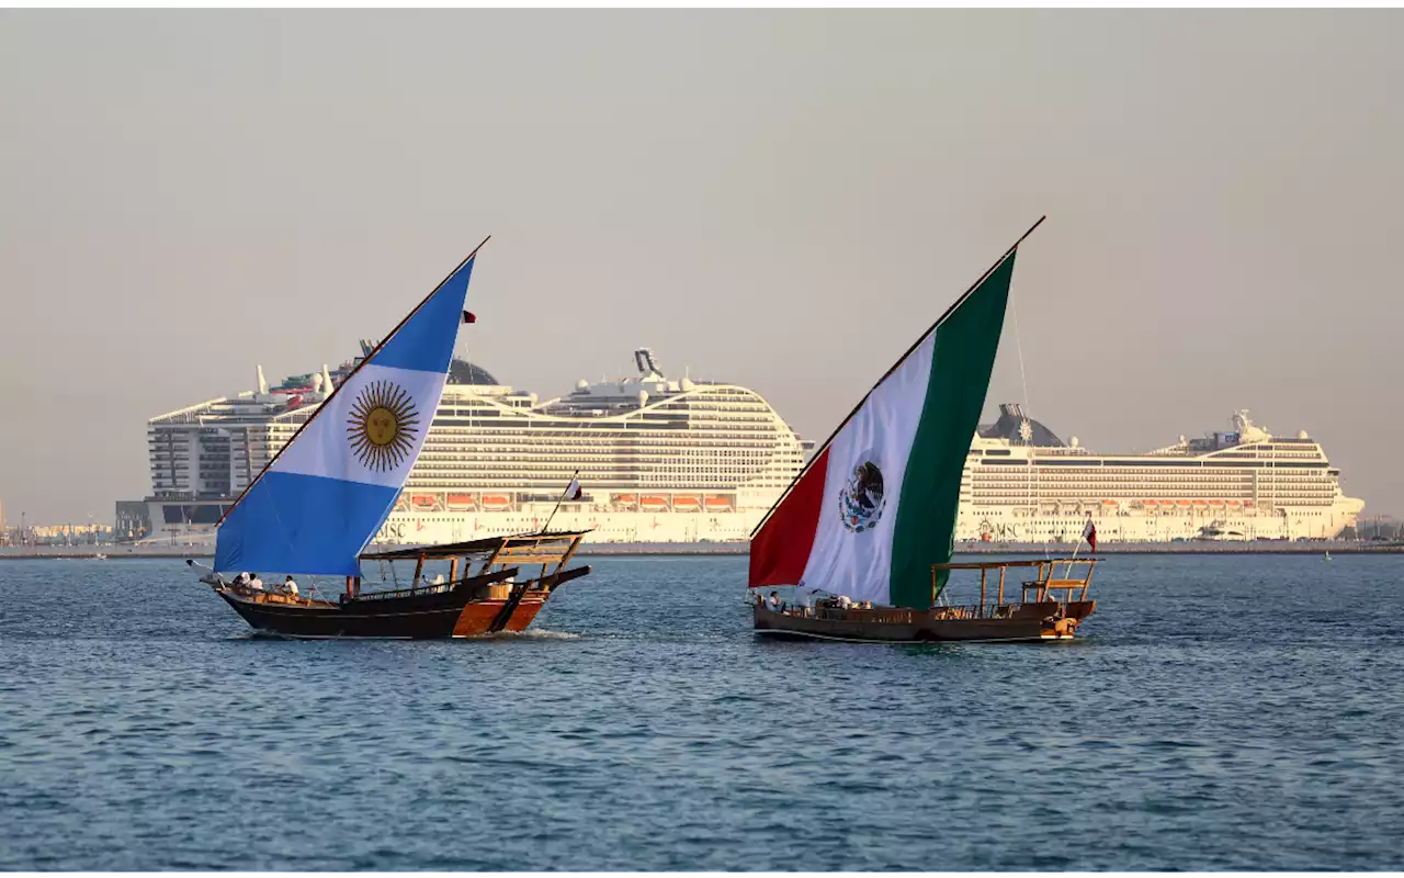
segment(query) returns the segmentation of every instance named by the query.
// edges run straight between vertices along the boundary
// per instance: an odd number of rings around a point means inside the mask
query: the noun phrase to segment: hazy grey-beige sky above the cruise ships
[[[3,11],[0,500],[110,521],[146,419],[336,365],[484,235],[470,357],[823,440],[1040,214],[1032,413],[1251,409],[1404,513],[1396,11]],[[1024,389],[1007,327],[998,400]]]

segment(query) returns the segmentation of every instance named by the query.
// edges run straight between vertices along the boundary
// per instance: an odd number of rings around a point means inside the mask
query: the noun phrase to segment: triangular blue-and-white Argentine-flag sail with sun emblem
[[[395,507],[434,421],[476,256],[343,379],[244,489],[219,524],[216,570],[359,576],[357,559]]]

